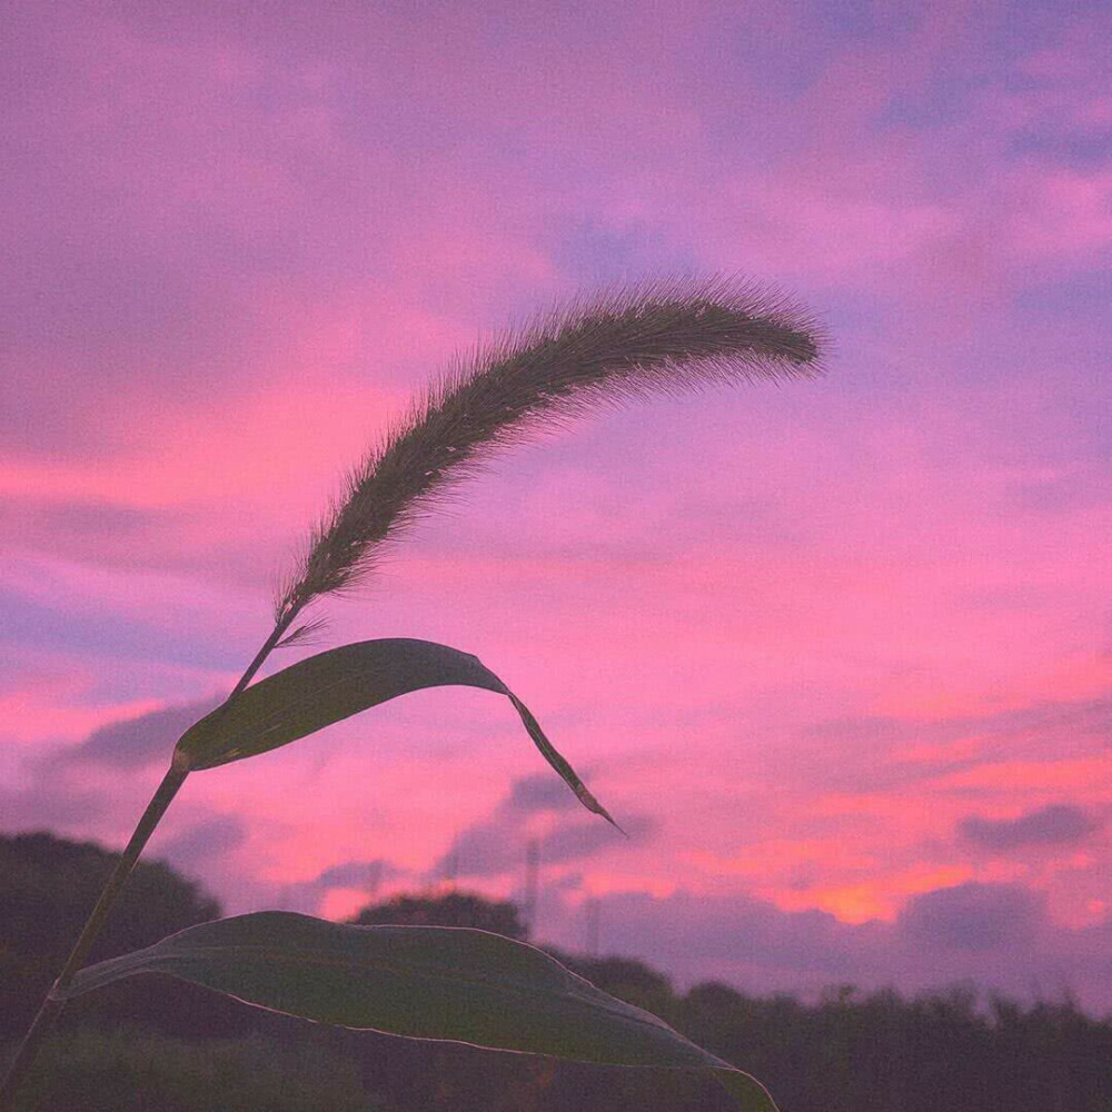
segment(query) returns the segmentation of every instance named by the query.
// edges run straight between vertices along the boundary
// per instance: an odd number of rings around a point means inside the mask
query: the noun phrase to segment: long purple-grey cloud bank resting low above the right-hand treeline
[[[568,886],[543,893],[554,941],[583,944],[583,905]],[[970,982],[1022,999],[1068,990],[1082,1006],[1112,1009],[1112,919],[1082,930],[1052,923],[1040,897],[1015,885],[966,884],[913,898],[894,923],[840,922],[785,912],[746,895],[596,901],[602,952],[639,957],[677,982],[722,980],[749,992],[815,996],[831,984],[936,991]]]

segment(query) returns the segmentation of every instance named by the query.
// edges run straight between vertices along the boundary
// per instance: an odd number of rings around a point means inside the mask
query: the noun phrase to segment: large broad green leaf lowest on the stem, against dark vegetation
[[[486,931],[349,926],[259,912],[192,926],[82,970],[67,999],[169,973],[319,1023],[607,1065],[709,1071],[744,1112],[764,1088],[663,1020],[607,995],[533,946]]]

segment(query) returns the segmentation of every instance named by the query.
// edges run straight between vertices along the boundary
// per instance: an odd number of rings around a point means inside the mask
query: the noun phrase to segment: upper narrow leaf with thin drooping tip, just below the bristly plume
[[[528,707],[477,656],[409,637],[331,648],[260,679],[190,726],[175,747],[175,759],[189,770],[215,768],[288,745],[408,692],[445,686],[481,687],[505,695],[537,748],[579,802],[617,826]]]

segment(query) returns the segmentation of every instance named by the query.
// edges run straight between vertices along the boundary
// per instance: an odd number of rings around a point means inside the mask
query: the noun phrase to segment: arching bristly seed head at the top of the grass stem
[[[821,338],[784,295],[724,278],[631,286],[538,317],[430,385],[353,471],[279,592],[278,631],[356,586],[384,544],[496,449],[598,404],[814,376]]]

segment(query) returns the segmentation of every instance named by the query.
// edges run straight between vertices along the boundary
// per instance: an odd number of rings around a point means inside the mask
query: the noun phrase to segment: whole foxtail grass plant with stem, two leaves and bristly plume
[[[67,1002],[121,977],[170,973],[262,1007],[356,1029],[615,1065],[709,1071],[751,1112],[775,1105],[748,1074],[532,946],[483,931],[349,926],[260,912],[189,927],[86,966],[90,947],[187,776],[286,745],[425,687],[505,695],[589,811],[606,808],[528,707],[475,656],[408,638],[359,642],[255,677],[319,631],[319,604],[370,575],[387,546],[494,454],[596,407],[821,371],[814,319],[782,294],[729,279],[612,290],[539,316],[434,380],[348,476],[275,600],[274,628],[227,699],[178,741],[73,951],[0,1090],[13,1101]],[[616,825],[616,824],[615,824]],[[218,1095],[218,1094],[215,1094]]]

